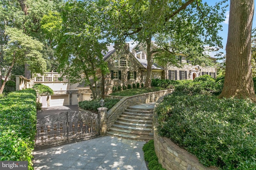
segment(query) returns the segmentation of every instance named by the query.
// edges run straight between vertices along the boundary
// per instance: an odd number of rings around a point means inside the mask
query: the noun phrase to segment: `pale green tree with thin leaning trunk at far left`
[[[4,90],[4,86],[14,64],[29,64],[29,69],[32,72],[44,72],[46,69],[46,62],[42,58],[40,51],[42,50],[42,43],[32,39],[32,37],[23,33],[21,29],[6,27],[5,37],[7,44],[3,46],[4,57],[3,60],[8,64],[6,66],[6,74],[4,82],[0,88],[0,94]]]

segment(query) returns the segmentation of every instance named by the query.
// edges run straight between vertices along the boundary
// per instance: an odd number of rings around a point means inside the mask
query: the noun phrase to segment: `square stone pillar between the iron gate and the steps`
[[[107,135],[107,110],[108,108],[106,107],[98,108],[100,136]]]

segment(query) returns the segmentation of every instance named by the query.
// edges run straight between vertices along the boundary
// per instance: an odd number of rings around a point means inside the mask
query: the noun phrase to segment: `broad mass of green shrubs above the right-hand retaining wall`
[[[204,166],[255,169],[256,104],[251,101],[174,92],[156,111],[160,135]]]

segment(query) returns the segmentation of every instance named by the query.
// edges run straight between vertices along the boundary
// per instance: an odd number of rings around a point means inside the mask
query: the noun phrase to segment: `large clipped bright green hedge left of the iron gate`
[[[28,169],[33,170],[36,91],[9,93],[0,98],[0,110],[0,161],[28,161]]]

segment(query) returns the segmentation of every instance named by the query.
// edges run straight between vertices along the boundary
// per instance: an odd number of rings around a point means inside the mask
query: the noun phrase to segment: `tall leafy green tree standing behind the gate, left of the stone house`
[[[85,81],[98,97],[98,76],[108,72],[102,51],[106,51],[102,21],[94,0],[66,2],[62,11],[62,34],[56,53],[60,71],[71,83]]]

